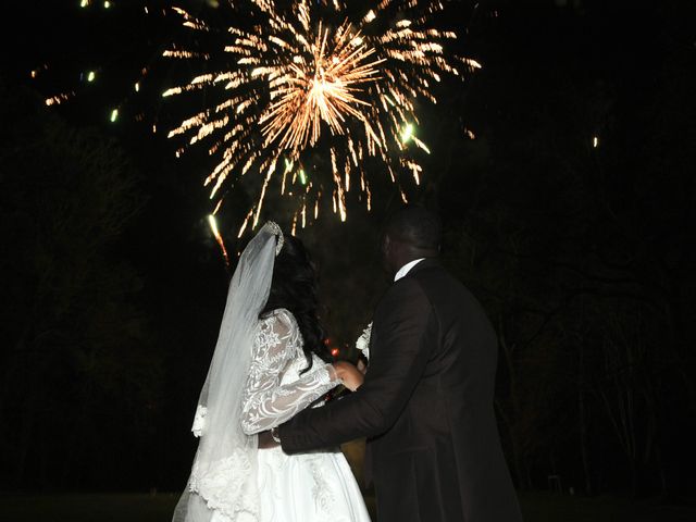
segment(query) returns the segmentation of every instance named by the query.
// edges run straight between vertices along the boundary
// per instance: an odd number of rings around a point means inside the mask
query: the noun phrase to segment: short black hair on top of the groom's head
[[[442,223],[438,215],[425,207],[407,204],[387,219],[384,232],[412,247],[437,250],[442,239]]]

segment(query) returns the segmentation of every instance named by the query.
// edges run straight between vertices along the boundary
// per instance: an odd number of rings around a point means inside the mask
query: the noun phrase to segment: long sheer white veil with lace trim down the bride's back
[[[241,395],[282,241],[281,228],[269,222],[237,263],[194,421],[198,450],[173,522],[209,522],[215,511],[239,522],[259,518],[258,443],[241,431]]]

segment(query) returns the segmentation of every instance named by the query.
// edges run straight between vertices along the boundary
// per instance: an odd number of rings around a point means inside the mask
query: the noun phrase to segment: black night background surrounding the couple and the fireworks
[[[126,5],[136,2],[13,3],[5,22],[18,36],[0,85],[0,465],[18,482],[0,487],[177,490],[231,275],[207,222],[211,160],[196,148],[177,159],[165,132],[150,132],[182,115],[158,95],[189,74],[158,60],[178,25]],[[458,45],[483,69],[445,82],[423,109],[433,153],[412,199],[440,212],[444,261],[502,339],[497,408],[515,484],[545,488],[555,471],[593,494],[693,496],[694,2],[450,9],[465,28]],[[79,79],[88,70],[94,85]],[[70,102],[42,104],[72,88]],[[107,147],[103,160],[92,145]],[[116,157],[127,182],[112,194],[89,169]],[[398,192],[377,183],[374,201],[298,232],[320,268],[327,334],[348,359],[387,284],[376,231]],[[290,221],[273,198],[264,219]],[[239,220],[234,208],[220,217],[233,253],[248,239],[235,238]],[[631,428],[617,424],[626,415]]]

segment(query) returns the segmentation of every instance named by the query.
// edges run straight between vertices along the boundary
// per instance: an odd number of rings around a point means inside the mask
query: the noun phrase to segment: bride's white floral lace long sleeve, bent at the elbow
[[[297,357],[298,341],[299,330],[283,313],[261,321],[243,398],[241,428],[246,434],[284,423],[339,384],[331,364],[316,363],[299,380],[281,384]]]

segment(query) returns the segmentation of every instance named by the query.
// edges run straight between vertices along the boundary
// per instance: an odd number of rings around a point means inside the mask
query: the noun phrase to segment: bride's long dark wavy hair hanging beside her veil
[[[316,272],[304,245],[299,238],[286,235],[283,248],[275,258],[271,293],[260,316],[268,316],[278,308],[285,308],[295,315],[304,341],[302,349],[308,363],[302,373],[312,368],[312,353],[325,362],[333,360],[319,322],[316,287]]]

